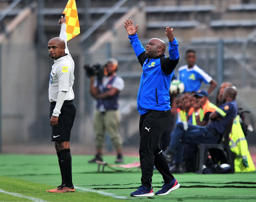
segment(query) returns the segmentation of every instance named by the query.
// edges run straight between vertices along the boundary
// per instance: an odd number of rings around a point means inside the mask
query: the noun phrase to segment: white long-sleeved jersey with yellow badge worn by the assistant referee
[[[49,81],[49,101],[57,102],[59,91],[66,91],[65,100],[74,99],[74,60],[71,57],[68,47],[67,47],[67,34],[66,34],[66,24],[61,24],[60,35],[62,39],[65,40],[66,49],[65,53],[67,55],[54,60],[54,65],[52,66],[52,71],[50,74]]]

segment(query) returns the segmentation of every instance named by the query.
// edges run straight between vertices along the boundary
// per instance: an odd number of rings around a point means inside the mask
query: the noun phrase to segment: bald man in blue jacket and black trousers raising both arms
[[[145,50],[137,36],[138,25],[134,27],[132,20],[127,19],[124,26],[142,66],[137,97],[137,108],[141,115],[139,153],[142,185],[138,190],[132,192],[131,196],[154,196],[152,188],[154,165],[165,182],[156,195],[167,195],[179,188],[180,184],[170,173],[162,150],[158,147],[158,142],[171,119],[169,88],[173,70],[179,62],[178,43],[173,37],[173,29],[167,27],[166,35],[169,40],[170,57],[166,57],[166,46],[162,40],[150,39]]]

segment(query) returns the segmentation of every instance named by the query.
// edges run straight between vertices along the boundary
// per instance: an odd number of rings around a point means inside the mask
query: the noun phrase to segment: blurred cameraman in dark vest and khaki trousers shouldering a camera
[[[102,148],[105,132],[108,132],[117,152],[115,163],[123,163],[122,139],[119,134],[119,94],[124,89],[124,81],[116,75],[118,62],[111,58],[104,69],[100,65],[86,66],[87,76],[90,77],[90,94],[97,100],[94,130],[96,135],[96,156],[89,163],[102,160]],[[106,72],[107,75],[104,75]]]

